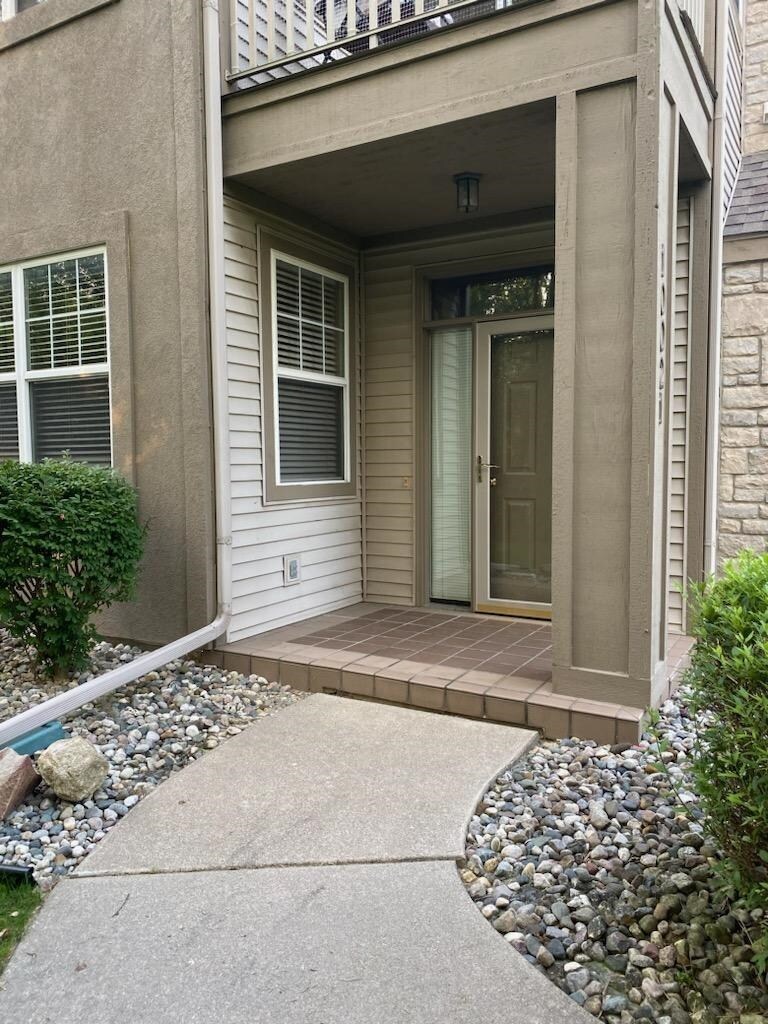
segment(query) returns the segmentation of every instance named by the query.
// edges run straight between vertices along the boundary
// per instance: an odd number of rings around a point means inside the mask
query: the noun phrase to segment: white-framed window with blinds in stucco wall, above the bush
[[[112,463],[103,252],[0,270],[0,459]]]

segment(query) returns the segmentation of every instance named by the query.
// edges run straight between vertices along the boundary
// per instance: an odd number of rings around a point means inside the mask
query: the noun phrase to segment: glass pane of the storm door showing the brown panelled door
[[[552,600],[552,331],[490,338],[490,597]]]

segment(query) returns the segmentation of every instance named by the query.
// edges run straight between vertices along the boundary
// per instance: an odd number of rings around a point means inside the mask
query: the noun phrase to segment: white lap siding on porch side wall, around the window
[[[224,209],[234,641],[358,601],[362,543],[358,500],[263,503],[256,221],[233,201]],[[358,411],[355,420],[359,436]],[[291,587],[285,555],[301,557]]]

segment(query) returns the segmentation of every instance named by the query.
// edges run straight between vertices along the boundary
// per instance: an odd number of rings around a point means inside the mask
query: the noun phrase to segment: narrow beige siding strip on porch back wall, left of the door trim
[[[366,563],[370,600],[415,600],[415,367],[410,263],[365,270]]]

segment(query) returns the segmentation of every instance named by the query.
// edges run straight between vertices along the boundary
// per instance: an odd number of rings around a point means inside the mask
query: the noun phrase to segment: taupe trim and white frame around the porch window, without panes
[[[356,262],[353,257],[330,255],[322,249],[310,249],[286,236],[273,234],[258,227],[259,294],[261,295],[261,400],[262,449],[264,459],[263,503],[274,505],[292,502],[313,502],[325,499],[357,498],[356,433],[358,429],[356,393]],[[323,274],[344,285],[344,377],[280,369],[278,365],[276,332],[276,260]],[[280,408],[278,378],[306,380],[312,383],[343,388],[344,409],[344,476],[338,480],[283,481],[280,478]]]

